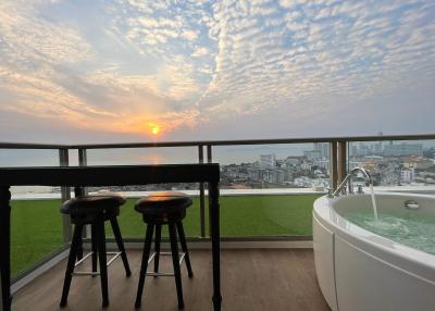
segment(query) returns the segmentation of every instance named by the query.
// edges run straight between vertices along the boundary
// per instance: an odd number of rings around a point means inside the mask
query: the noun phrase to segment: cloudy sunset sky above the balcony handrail
[[[435,1],[2,0],[0,141],[435,133]]]

